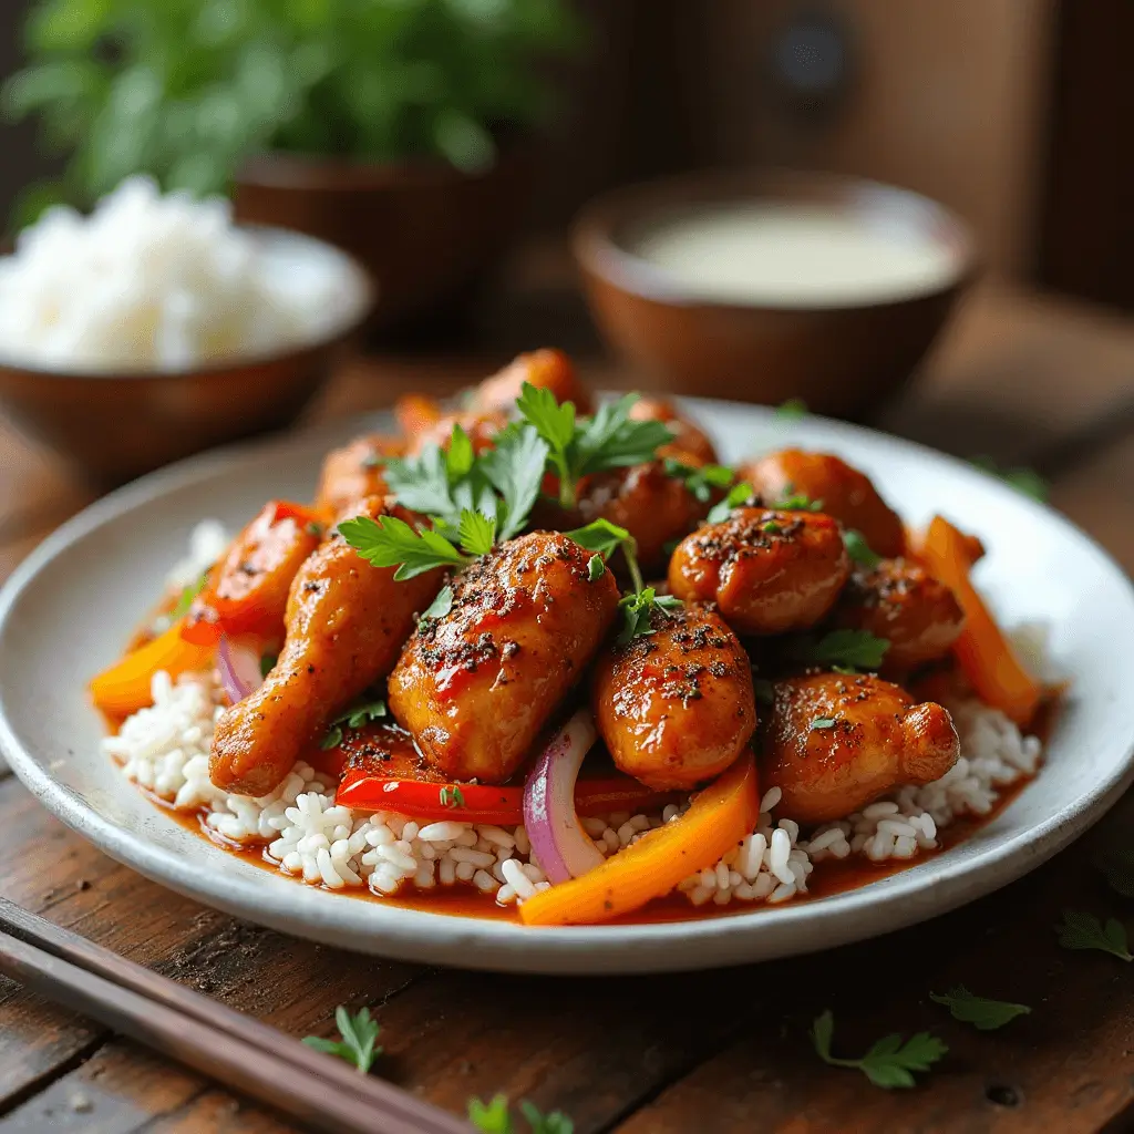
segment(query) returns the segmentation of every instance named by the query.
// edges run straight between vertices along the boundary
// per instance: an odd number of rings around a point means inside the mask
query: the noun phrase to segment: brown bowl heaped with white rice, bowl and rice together
[[[0,257],[0,403],[100,484],[290,424],[373,306],[346,253],[132,178]]]

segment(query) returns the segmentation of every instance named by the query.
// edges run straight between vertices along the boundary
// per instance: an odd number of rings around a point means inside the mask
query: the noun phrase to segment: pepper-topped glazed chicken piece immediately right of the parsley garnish
[[[813,511],[738,508],[686,536],[669,561],[670,591],[685,602],[714,602],[738,634],[814,626],[849,575],[843,530]]]

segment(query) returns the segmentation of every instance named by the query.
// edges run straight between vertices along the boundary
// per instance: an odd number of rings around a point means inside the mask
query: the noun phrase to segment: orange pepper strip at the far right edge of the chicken
[[[973,586],[970,573],[980,548],[979,541],[934,516],[921,541],[920,555],[965,611],[964,628],[953,646],[962,672],[982,701],[1002,710],[1023,728],[1035,716],[1044,691],[1021,665]]]

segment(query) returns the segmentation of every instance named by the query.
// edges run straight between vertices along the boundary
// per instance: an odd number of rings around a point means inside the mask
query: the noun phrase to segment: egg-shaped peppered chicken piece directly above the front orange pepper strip
[[[722,772],[756,725],[752,667],[736,635],[709,610],[657,608],[652,634],[599,655],[594,716],[628,776],[662,790]]]

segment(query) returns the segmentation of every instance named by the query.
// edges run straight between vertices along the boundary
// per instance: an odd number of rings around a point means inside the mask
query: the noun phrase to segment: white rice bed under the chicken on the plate
[[[170,575],[179,586],[200,576],[223,550],[219,525],[202,524],[191,557]],[[184,581],[184,582],[183,582]],[[526,830],[460,820],[425,822],[395,812],[355,813],[335,803],[336,784],[302,761],[271,795],[260,799],[213,787],[209,750],[225,711],[214,674],[156,674],[153,705],[128,718],[103,752],[128,779],[178,811],[202,812],[206,827],[231,844],[263,846],[279,869],[330,889],[367,886],[381,895],[466,886],[502,905],[523,902],[550,883]],[[941,779],[904,787],[887,799],[801,838],[792,819],[776,819],[778,787],[760,803],[756,828],[720,860],[684,879],[678,890],[695,906],[712,902],[787,902],[807,891],[824,858],[861,855],[873,862],[914,858],[939,846],[938,833],[955,819],[985,815],[1001,789],[1035,773],[1042,746],[1023,736],[998,709],[976,700],[949,705],[962,755]],[[678,818],[674,804],[651,814],[620,812],[585,818],[583,829],[607,856],[643,832]]]

